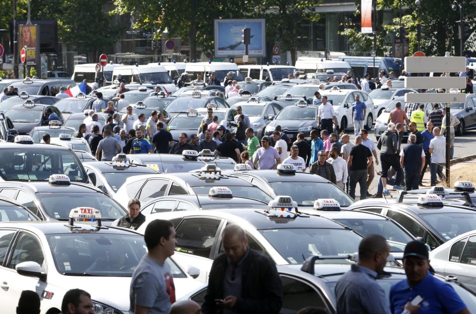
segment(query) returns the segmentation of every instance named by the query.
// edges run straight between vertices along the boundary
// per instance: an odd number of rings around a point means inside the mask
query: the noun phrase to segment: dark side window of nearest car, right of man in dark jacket
[[[303,307],[318,307],[327,309],[326,302],[320,293],[308,283],[295,278],[281,275],[282,282],[282,308],[281,313],[296,313]]]

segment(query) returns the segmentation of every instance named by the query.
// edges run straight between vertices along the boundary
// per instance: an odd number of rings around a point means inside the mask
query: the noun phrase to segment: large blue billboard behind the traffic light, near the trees
[[[215,19],[215,57],[235,57],[245,54],[243,28],[251,29],[249,56],[266,56],[265,19]]]

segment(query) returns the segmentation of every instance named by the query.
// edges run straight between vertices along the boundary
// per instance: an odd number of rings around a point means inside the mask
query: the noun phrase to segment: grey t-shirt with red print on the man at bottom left
[[[149,314],[168,314],[175,302],[175,286],[167,262],[160,264],[144,255],[132,275],[129,298],[131,313],[137,304],[150,308]]]

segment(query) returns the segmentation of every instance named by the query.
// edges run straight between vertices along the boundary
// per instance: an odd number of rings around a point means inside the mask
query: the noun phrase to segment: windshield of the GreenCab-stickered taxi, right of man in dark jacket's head
[[[279,219],[282,218],[273,218],[276,223]],[[358,234],[345,229],[282,228],[258,231],[290,264],[303,263],[315,255],[354,254],[362,240]]]

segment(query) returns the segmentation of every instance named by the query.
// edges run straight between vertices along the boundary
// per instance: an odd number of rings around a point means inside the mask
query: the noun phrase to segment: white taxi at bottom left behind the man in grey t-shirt
[[[96,220],[96,225],[76,223],[78,219]],[[63,296],[73,288],[91,294],[94,313],[129,313],[131,277],[146,253],[143,236],[101,226],[101,214],[93,208],[72,209],[68,224],[0,223],[1,313],[16,313],[23,290],[38,293],[41,314],[60,313]],[[172,258],[167,263],[177,299],[200,287]],[[188,269],[198,276],[196,267]]]

